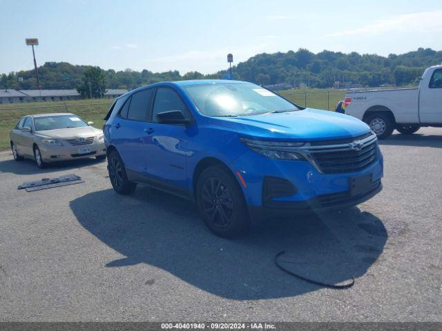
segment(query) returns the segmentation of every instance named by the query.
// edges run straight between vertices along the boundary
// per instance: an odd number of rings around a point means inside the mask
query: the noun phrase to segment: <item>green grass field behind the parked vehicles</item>
[[[334,110],[336,103],[344,98],[343,90],[306,89],[287,90],[278,92],[283,97],[294,103],[307,107],[327,109],[327,97],[329,98],[329,110]],[[79,115],[85,121],[93,121],[95,128],[102,128],[104,116],[111,105],[110,99],[77,100],[63,102],[35,102],[35,103],[9,103],[0,105],[0,150],[10,148],[9,132],[15,123],[27,114],[41,114],[48,112],[72,112]]]

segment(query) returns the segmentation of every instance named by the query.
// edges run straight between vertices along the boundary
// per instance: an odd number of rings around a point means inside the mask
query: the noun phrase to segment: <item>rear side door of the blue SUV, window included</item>
[[[152,89],[132,94],[113,120],[109,129],[113,146],[130,172],[144,172],[144,129],[151,107]]]

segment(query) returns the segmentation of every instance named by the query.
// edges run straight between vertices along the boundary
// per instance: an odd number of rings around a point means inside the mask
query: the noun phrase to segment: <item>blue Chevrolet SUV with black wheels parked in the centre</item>
[[[137,183],[195,201],[221,237],[251,219],[356,205],[381,191],[376,134],[253,83],[154,83],[115,100],[104,139],[115,191]]]

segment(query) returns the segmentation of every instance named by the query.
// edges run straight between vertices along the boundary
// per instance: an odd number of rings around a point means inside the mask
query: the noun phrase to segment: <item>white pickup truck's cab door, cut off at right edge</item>
[[[421,123],[442,123],[442,69],[434,70],[430,81],[422,81],[419,119]]]

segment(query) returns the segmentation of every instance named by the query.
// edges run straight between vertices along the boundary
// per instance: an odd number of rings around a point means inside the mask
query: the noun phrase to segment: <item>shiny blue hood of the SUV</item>
[[[223,126],[250,137],[314,141],[357,137],[369,126],[354,117],[307,108],[295,112],[267,113],[242,117],[223,117]]]

